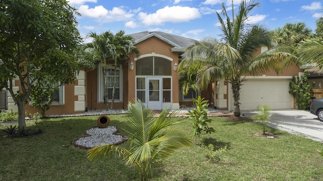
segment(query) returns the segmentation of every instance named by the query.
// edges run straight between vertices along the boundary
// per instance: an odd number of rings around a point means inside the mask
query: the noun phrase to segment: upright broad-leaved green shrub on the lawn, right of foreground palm
[[[195,103],[195,107],[192,110],[188,110],[187,115],[190,115],[189,118],[193,120],[193,135],[195,136],[195,143],[199,144],[202,132],[211,134],[215,131],[207,125],[207,123],[211,122],[211,120],[207,118],[207,100],[198,96],[197,99],[193,98],[193,101]]]

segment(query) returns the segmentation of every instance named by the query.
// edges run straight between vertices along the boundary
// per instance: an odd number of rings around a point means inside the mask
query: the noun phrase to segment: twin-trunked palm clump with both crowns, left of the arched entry
[[[121,59],[129,60],[129,57],[134,52],[137,56],[139,55],[139,50],[134,45],[135,40],[131,35],[125,35],[124,31],[119,31],[115,35],[111,31],[106,31],[101,34],[91,32],[87,35],[92,38],[92,42],[84,44],[84,48],[92,51],[95,55],[97,61],[103,67],[103,101],[105,104],[105,109],[109,109],[109,94],[112,94],[110,99],[111,109],[113,109],[114,99],[116,95],[116,77],[117,77],[117,67],[120,65]],[[114,61],[114,79],[113,79],[113,89],[112,93],[109,92],[108,88],[108,72],[106,70],[107,61],[113,59]]]

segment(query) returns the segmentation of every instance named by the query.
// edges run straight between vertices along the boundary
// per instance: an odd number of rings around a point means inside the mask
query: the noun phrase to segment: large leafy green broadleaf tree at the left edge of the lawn
[[[49,87],[76,79],[75,49],[81,37],[75,14],[65,0],[0,1],[0,83],[18,106],[21,132],[26,129],[25,104],[36,81]],[[20,90],[14,92],[17,78]]]

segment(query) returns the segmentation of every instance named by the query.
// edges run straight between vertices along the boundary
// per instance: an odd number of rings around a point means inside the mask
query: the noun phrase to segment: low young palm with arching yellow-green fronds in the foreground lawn
[[[126,130],[131,135],[130,149],[116,145],[105,144],[92,148],[88,152],[89,160],[97,160],[107,155],[118,153],[126,164],[135,164],[140,172],[141,180],[145,180],[152,162],[161,161],[175,150],[192,145],[192,139],[185,132],[171,125],[181,123],[176,116],[177,111],[170,113],[171,107],[164,109],[155,118],[152,110],[146,108],[138,99],[130,103],[129,121],[126,124],[132,130]]]

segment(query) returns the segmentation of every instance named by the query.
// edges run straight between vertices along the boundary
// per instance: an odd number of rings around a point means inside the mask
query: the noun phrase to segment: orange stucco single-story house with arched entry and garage
[[[114,108],[126,108],[129,101],[140,98],[150,109],[160,110],[172,105],[192,105],[192,94],[184,96],[179,87],[177,66],[185,48],[193,44],[192,39],[164,32],[144,31],[132,34],[140,56],[132,55],[130,61],[123,60],[117,69],[117,94]],[[257,53],[265,51],[258,48]],[[113,64],[113,61],[108,64]],[[114,69],[108,65],[106,69]],[[280,75],[269,71],[259,76],[247,76],[241,87],[241,110],[255,109],[258,104],[268,104],[274,109],[295,108],[294,99],[288,93],[292,76],[299,76],[303,70],[296,66],[285,69]],[[113,74],[109,75],[113,80]],[[112,82],[108,92],[112,93]],[[17,84],[18,85],[18,82]],[[15,87],[16,90],[19,87]],[[231,85],[218,80],[202,91],[210,107],[233,110]],[[109,95],[111,97],[111,94]],[[15,103],[9,95],[8,108],[14,110]],[[104,109],[102,65],[80,71],[75,84],[62,86],[53,96],[53,102],[46,114],[82,113],[87,110]],[[37,110],[26,105],[29,113]]]

